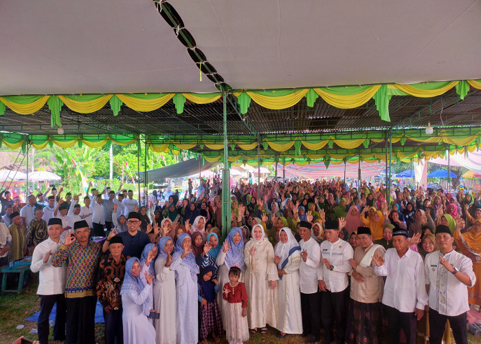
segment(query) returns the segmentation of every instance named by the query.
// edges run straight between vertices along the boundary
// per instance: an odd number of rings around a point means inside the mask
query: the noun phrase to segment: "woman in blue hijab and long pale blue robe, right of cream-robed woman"
[[[192,253],[188,234],[181,234],[175,244],[170,270],[177,281],[177,343],[197,344],[199,323],[197,319],[197,274],[199,266]]]

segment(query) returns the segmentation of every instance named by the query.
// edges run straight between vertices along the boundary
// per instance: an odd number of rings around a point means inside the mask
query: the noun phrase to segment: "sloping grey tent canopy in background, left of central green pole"
[[[202,171],[212,169],[219,163],[205,162],[201,166]],[[147,171],[148,182],[164,182],[166,178],[182,178],[189,175],[199,174],[199,160],[189,159],[186,161],[178,162],[169,166],[161,167],[160,169],[153,169]],[[144,171],[139,172],[139,180],[144,180]]]

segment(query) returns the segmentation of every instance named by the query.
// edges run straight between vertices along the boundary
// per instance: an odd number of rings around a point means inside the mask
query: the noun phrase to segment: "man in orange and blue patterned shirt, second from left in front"
[[[75,236],[68,233],[52,265],[67,264],[67,343],[93,344],[95,340],[96,268],[100,244],[89,240],[90,230],[84,220],[74,224]]]

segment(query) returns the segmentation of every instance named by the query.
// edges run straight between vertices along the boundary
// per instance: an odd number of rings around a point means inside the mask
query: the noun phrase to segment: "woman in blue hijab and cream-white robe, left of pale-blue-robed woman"
[[[157,344],[175,344],[177,339],[177,324],[172,310],[175,310],[175,272],[170,270],[174,241],[170,237],[161,237],[157,246],[159,255],[155,259],[154,305],[159,312],[155,321]]]

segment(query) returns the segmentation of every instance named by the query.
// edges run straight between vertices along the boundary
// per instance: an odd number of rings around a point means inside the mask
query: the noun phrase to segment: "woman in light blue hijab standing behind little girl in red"
[[[223,290],[224,284],[229,283],[229,270],[232,266],[240,268],[239,281],[244,281],[244,241],[242,230],[238,227],[234,227],[230,230],[229,234],[225,238],[223,247],[219,250],[217,255],[216,265],[219,266],[217,271],[217,280],[219,286]],[[222,295],[217,296],[217,302],[221,306],[221,314],[223,319],[227,319],[227,303],[223,302]],[[227,321],[223,321],[224,328]]]

